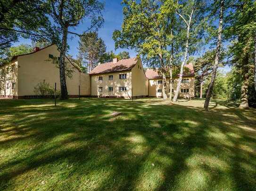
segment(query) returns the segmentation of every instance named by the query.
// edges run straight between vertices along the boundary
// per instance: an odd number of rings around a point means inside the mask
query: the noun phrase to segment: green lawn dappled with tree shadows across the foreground
[[[203,101],[0,99],[0,190],[256,190],[256,110]]]

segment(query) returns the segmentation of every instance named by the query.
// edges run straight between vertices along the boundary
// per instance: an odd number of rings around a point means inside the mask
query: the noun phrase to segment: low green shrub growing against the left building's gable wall
[[[49,83],[46,83],[45,80],[40,82],[34,87],[34,93],[40,96],[52,96],[54,97],[55,90],[50,86]],[[60,91],[56,90],[56,97],[60,96]]]

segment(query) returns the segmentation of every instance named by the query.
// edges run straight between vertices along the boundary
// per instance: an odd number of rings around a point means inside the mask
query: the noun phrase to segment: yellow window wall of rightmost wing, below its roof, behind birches
[[[189,77],[183,77],[182,79],[189,79],[189,83],[182,83],[180,92],[179,92],[179,97],[182,98],[193,98],[195,97],[195,77],[194,76],[189,76]],[[162,78],[158,79],[149,79],[149,97],[163,97],[163,92],[158,92],[159,89],[163,90],[163,84],[157,84],[158,80],[163,80]],[[173,94],[176,92],[178,84],[178,78],[175,78],[173,81]],[[170,82],[169,78],[166,79],[166,92],[169,95],[169,90],[170,90]],[[182,93],[181,89],[189,89],[189,92]]]

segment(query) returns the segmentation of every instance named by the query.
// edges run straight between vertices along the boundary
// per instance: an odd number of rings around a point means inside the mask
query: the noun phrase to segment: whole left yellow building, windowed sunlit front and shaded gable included
[[[50,45],[45,48],[35,48],[33,53],[17,55],[13,57],[10,63],[0,67],[0,69],[9,68],[7,79],[1,83],[0,97],[5,98],[36,98],[34,87],[41,82],[49,83],[53,88],[57,83],[57,90],[60,89],[59,69],[52,63],[52,57],[59,57],[59,51],[56,45]],[[66,76],[67,91],[70,97],[89,95],[90,76],[81,71],[81,69],[72,63],[66,57],[67,68],[73,70],[72,77]]]

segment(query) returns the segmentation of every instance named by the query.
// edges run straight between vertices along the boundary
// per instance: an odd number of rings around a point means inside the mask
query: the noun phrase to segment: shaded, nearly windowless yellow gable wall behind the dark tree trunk
[[[19,96],[35,95],[34,87],[43,81],[49,83],[51,87],[54,87],[54,83],[56,82],[57,89],[60,90],[59,69],[50,61],[49,54],[59,57],[59,51],[56,45],[17,58]],[[83,74],[76,69],[68,59],[65,59],[65,61],[68,63],[68,67],[74,71],[72,78],[66,76],[68,94],[70,96],[77,96],[78,87],[81,85],[81,95],[89,95],[89,75]]]

